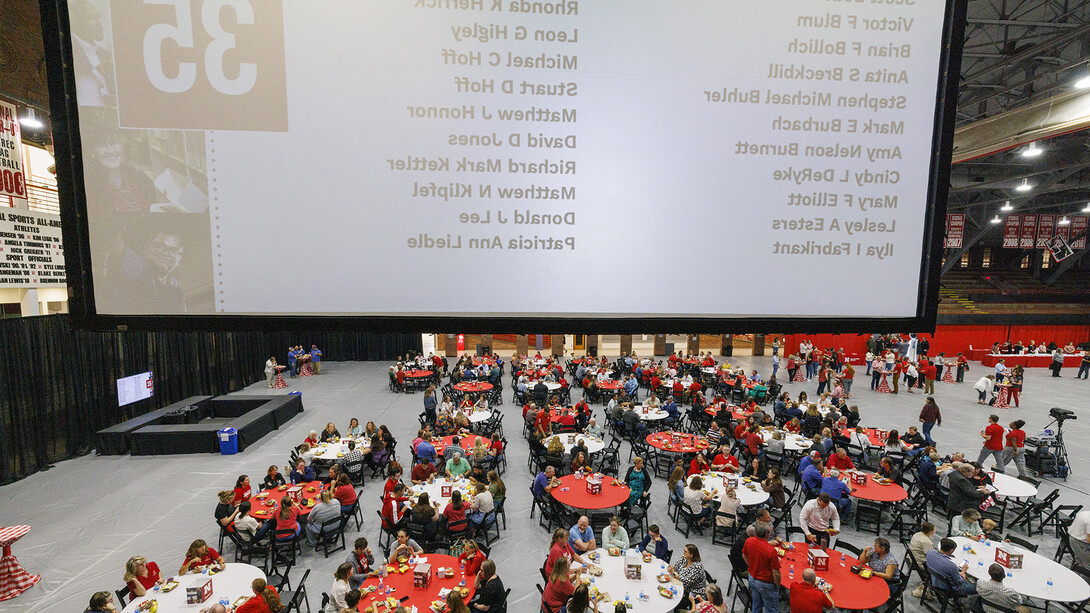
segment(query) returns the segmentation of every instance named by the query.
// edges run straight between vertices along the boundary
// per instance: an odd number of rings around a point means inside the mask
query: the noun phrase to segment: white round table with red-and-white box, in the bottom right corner
[[[1029,598],[1054,600],[1057,602],[1081,602],[1090,598],[1090,586],[1070,568],[1053,562],[1038,553],[1025,550],[1012,543],[985,541],[979,543],[965,537],[954,537],[957,549],[954,550],[954,562],[969,563],[968,574],[978,579],[988,578],[988,567],[995,562],[995,550],[1003,546],[1022,554],[1022,567],[1008,569],[1004,586]],[[969,545],[970,551],[965,551]],[[1052,577],[1052,589],[1049,589],[1049,577]],[[840,603],[837,602],[837,605]]]

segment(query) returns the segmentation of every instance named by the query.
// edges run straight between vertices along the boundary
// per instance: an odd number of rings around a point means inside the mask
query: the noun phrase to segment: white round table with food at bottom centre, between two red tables
[[[591,554],[597,554],[595,560],[588,560]],[[651,562],[644,562],[643,556],[632,549],[623,551],[622,555],[609,555],[603,549],[597,549],[591,554],[584,555],[592,566],[602,568],[601,577],[591,577],[591,585],[598,588],[598,591],[609,597],[609,600],[598,604],[598,610],[605,613],[613,611],[613,603],[625,600],[625,594],[629,596],[632,609],[630,613],[667,613],[677,606],[685,588],[681,581],[670,579],[669,584],[677,588],[676,598],[665,598],[658,593],[658,576],[666,573],[666,563],[657,557],[652,557]],[[641,569],[639,579],[629,579],[625,576],[625,560],[627,555],[639,556]],[[581,577],[588,576],[583,573]],[[640,592],[646,594],[647,600],[641,601]]]

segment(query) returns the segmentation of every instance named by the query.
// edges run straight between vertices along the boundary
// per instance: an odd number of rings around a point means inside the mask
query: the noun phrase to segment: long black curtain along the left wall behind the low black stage
[[[68,315],[0,320],[0,483],[90,450],[95,432],[195,395],[263,380],[265,361],[317,345],[326,361],[391,360],[419,334],[87,332]],[[118,407],[117,380],[152,371],[155,396]]]

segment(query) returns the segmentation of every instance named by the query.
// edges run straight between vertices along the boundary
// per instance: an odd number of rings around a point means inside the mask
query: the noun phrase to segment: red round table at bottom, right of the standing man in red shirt
[[[779,558],[780,585],[790,588],[795,581],[802,580],[802,570],[810,567],[807,554],[810,551],[807,543],[791,543],[794,551],[788,551]],[[851,573],[851,567],[859,565],[859,560],[850,554],[844,554],[844,566],[840,566],[840,555],[844,552],[826,550],[828,553],[828,570],[819,570],[818,577],[825,579],[833,589],[828,597],[836,602],[837,609],[863,611],[881,606],[889,600],[889,586],[881,577],[864,579]],[[791,577],[790,568],[795,568]]]

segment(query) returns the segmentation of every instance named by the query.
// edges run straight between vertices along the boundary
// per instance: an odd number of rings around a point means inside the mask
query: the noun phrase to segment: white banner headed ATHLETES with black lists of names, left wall
[[[61,218],[0,209],[0,288],[64,287]]]

